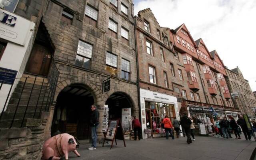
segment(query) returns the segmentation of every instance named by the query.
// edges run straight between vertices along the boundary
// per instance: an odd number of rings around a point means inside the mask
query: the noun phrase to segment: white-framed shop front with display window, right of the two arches
[[[166,115],[171,121],[174,117],[180,120],[177,98],[167,94],[140,89],[140,110],[143,138],[148,138],[147,129],[153,136],[161,136],[161,121]]]

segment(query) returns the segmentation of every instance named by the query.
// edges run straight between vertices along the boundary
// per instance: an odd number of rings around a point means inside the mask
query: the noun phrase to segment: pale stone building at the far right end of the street
[[[244,79],[244,76],[238,67],[229,70],[225,68],[228,83],[228,88],[232,95],[232,101],[234,105],[240,108],[242,114],[248,114],[248,116],[254,117],[254,111],[252,108],[256,107],[256,99],[248,80]]]

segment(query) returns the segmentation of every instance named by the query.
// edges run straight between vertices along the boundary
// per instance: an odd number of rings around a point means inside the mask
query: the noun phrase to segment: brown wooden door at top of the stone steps
[[[51,58],[50,50],[47,47],[34,43],[30,59],[27,63],[26,73],[40,76],[48,75]]]

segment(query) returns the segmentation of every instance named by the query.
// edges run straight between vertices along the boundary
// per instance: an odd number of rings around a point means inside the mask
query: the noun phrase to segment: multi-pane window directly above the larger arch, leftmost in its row
[[[90,68],[90,61],[92,58],[92,45],[79,40],[76,52],[76,66]]]

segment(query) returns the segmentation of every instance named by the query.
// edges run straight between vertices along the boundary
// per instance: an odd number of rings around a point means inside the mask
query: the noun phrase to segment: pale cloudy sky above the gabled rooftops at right
[[[256,91],[256,0],[134,0],[134,14],[150,8],[160,26],[185,24],[228,69],[240,68]]]

